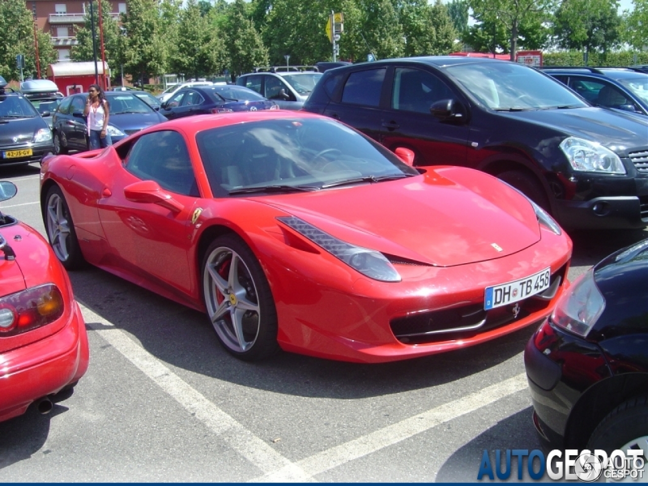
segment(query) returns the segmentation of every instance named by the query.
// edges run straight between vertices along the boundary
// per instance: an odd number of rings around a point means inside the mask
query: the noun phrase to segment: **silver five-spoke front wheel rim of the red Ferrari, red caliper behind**
[[[231,248],[215,248],[203,270],[203,290],[207,314],[221,341],[235,353],[249,351],[259,336],[261,313],[246,262]]]

